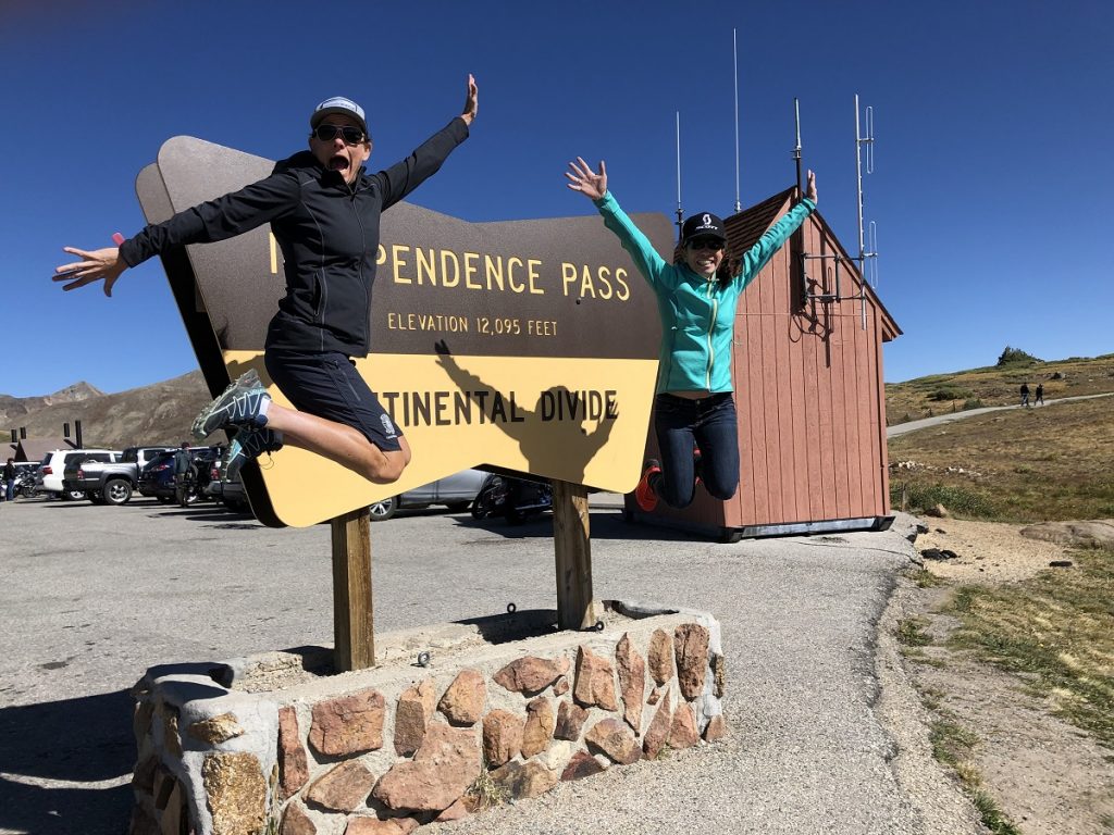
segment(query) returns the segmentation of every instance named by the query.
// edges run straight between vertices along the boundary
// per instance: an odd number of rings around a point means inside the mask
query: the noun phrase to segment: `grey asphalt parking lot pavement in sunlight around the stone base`
[[[612,769],[595,789],[563,785],[559,812],[535,807],[559,823],[531,828],[929,831],[931,800],[900,784],[873,709],[876,625],[909,563],[905,531],[720,544],[628,525],[609,499],[593,497],[596,597],[721,620],[730,735]],[[0,504],[0,832],[126,831],[127,690],[147,667],[332,641],[328,525],[271,530],[137,498]],[[549,517],[511,528],[403,512],[373,525],[372,548],[379,631],[555,606]],[[641,799],[608,802],[600,817],[616,786]],[[520,832],[530,816],[522,803],[458,826]]]

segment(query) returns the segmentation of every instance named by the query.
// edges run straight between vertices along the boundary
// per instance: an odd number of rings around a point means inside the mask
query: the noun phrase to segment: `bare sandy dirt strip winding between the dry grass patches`
[[[925,559],[925,568],[945,584],[920,589],[909,583],[898,592],[902,617],[930,625],[934,644],[925,655],[941,662],[908,662],[916,688],[935,703],[937,717],[977,735],[971,763],[981,775],[980,788],[1024,835],[1114,835],[1114,752],[1052,716],[1049,705],[1028,692],[1022,678],[941,646],[957,621],[937,613],[960,584],[1016,582],[1049,562],[1071,560],[1072,523],[1029,528],[1023,536],[1016,524],[921,521],[929,532],[917,538],[916,550],[935,548],[956,557]],[[1114,539],[1110,520],[1089,525],[1100,538]]]

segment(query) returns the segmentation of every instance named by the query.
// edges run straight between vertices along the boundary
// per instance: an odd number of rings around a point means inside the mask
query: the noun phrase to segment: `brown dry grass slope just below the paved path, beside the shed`
[[[905,490],[909,510],[940,502],[967,518],[1114,518],[1112,439],[1114,397],[991,412],[899,435],[889,442],[893,508]]]

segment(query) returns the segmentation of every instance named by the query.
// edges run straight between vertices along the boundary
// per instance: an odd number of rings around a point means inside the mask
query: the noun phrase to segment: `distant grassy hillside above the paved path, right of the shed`
[[[1030,391],[1044,383],[1045,400],[1114,392],[1114,354],[988,366],[888,383],[886,422],[893,425],[965,407],[1010,405],[1019,402],[1022,383],[1028,383]]]

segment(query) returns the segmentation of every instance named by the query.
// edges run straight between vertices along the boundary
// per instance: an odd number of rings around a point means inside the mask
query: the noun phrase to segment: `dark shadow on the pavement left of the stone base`
[[[99,835],[127,829],[135,701],[126,690],[0,708],[0,831]],[[35,785],[37,783],[59,785]],[[78,784],[78,785],[76,785]]]

